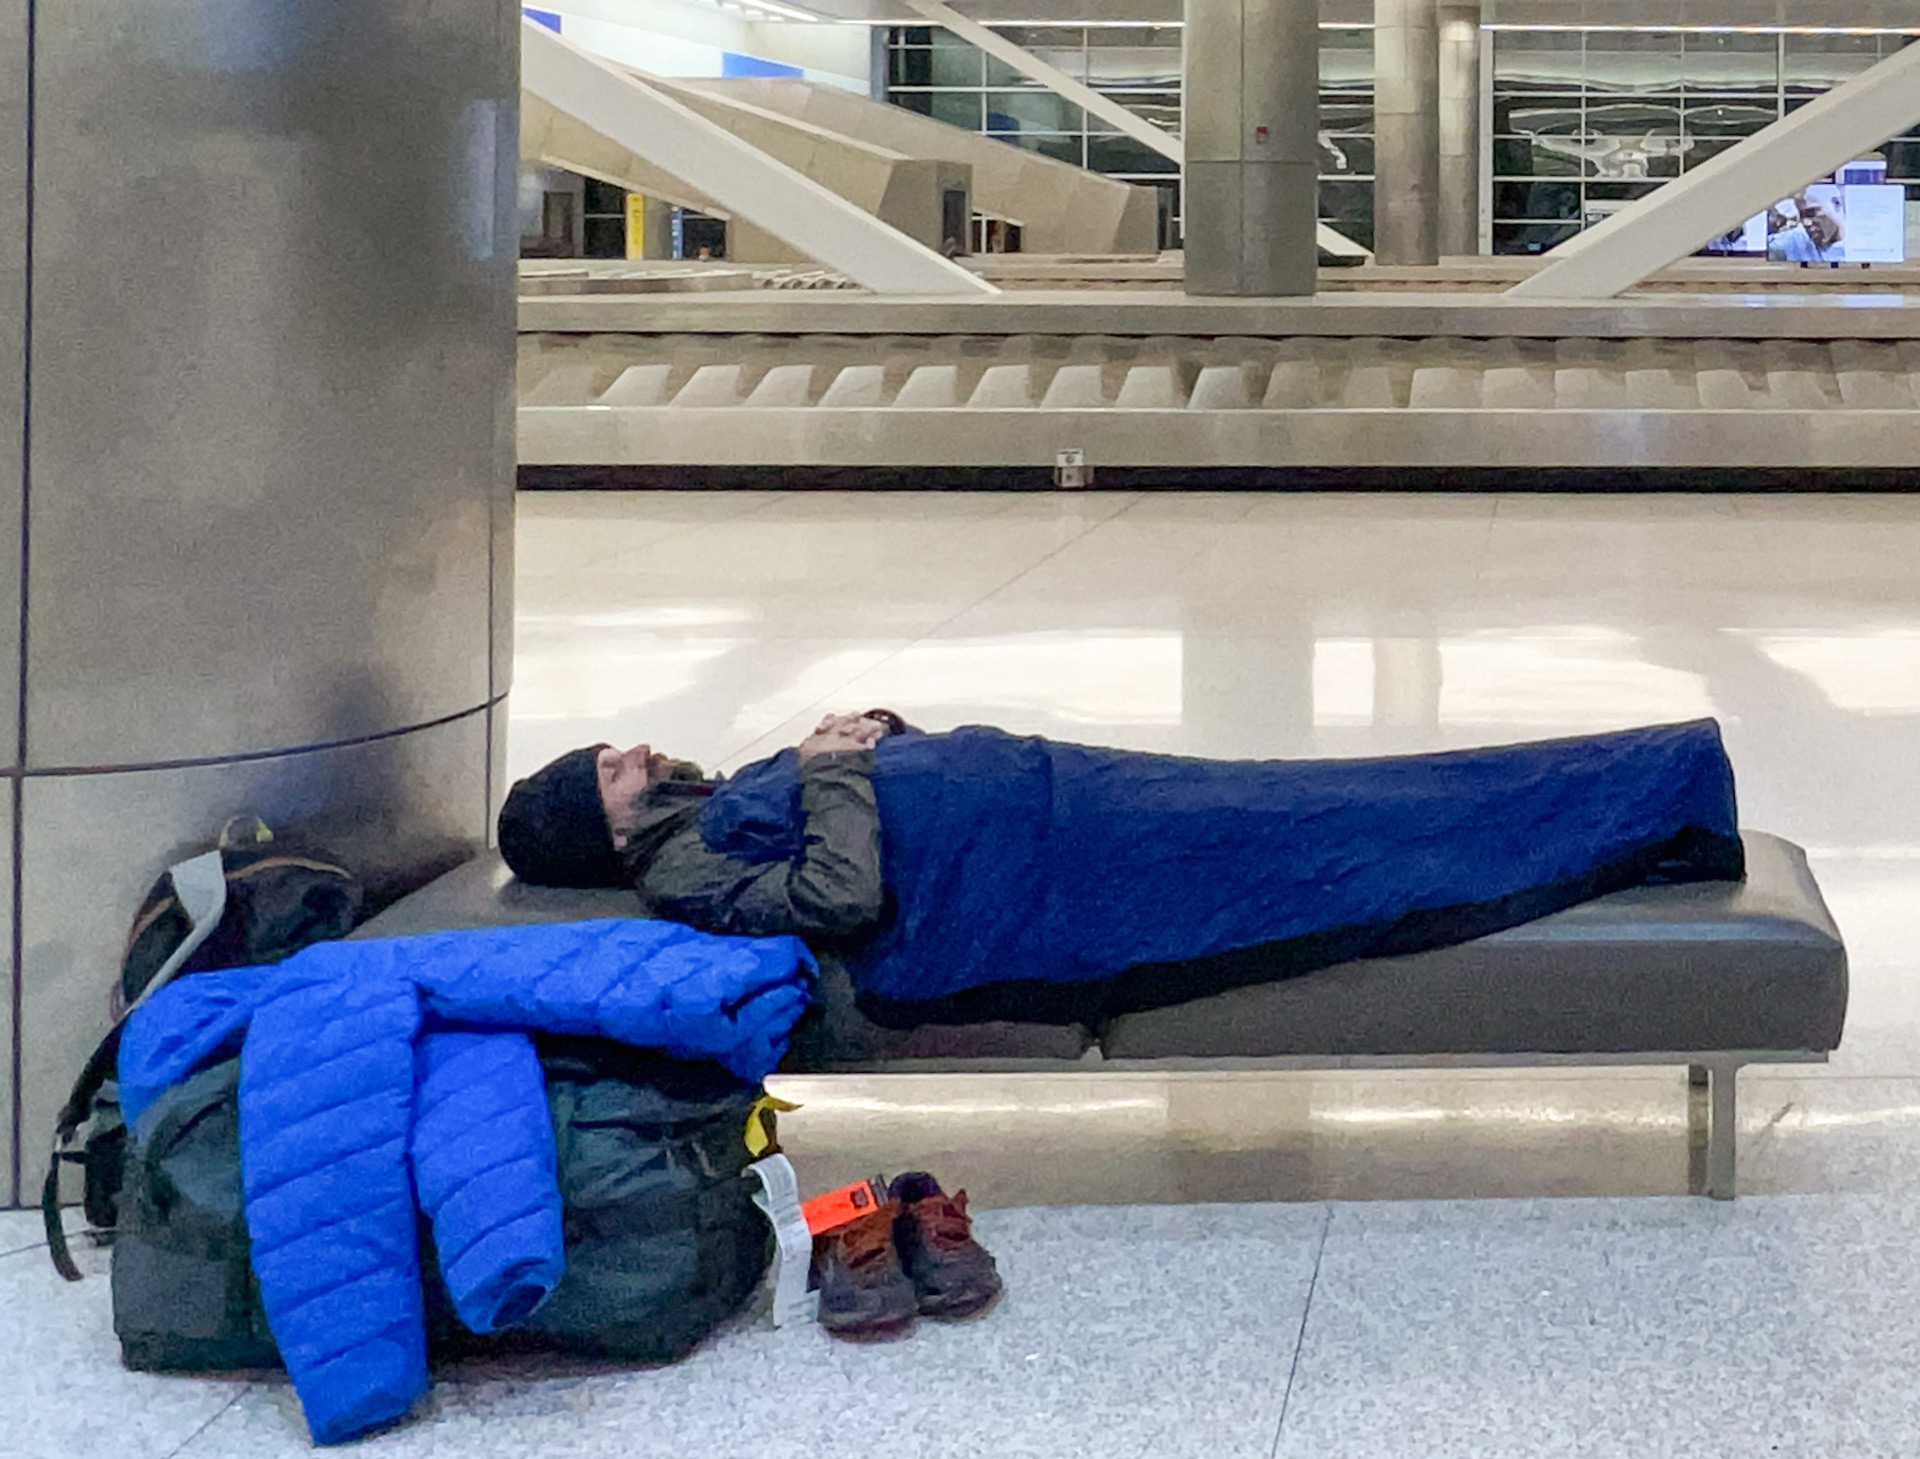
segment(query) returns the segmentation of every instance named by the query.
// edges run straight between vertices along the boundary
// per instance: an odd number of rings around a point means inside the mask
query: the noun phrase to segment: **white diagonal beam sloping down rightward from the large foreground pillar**
[[[624,67],[520,23],[520,86],[812,259],[879,294],[998,290]]]

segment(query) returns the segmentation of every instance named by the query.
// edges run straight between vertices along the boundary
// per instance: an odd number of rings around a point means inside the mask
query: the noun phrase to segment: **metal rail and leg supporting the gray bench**
[[[1705,1088],[1707,1171],[1701,1194],[1734,1200],[1738,1194],[1740,1106],[1736,1098],[1741,1067],[1749,1064],[1826,1064],[1828,1056],[1811,1048],[1695,1050],[1686,1054],[1273,1054],[1265,1058],[1104,1058],[1098,1046],[1079,1060],[877,1060],[826,1062],[781,1075],[806,1079],[835,1073],[1321,1073],[1342,1069],[1580,1069],[1580,1067],[1657,1067],[1686,1065],[1690,1088]]]

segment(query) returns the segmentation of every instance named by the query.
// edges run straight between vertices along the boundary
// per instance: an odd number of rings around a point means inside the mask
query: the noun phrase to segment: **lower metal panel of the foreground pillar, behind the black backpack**
[[[108,1029],[127,927],[154,877],[252,810],[330,847],[376,897],[424,881],[486,839],[486,718],[244,764],[29,777],[21,1148],[46,1148],[54,1112]]]

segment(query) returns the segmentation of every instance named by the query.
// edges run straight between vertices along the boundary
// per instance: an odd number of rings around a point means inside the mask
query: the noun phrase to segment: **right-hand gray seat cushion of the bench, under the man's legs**
[[[1839,1044],[1847,954],[1805,852],[1636,887],[1459,946],[1127,1014],[1108,1058],[1649,1054]]]

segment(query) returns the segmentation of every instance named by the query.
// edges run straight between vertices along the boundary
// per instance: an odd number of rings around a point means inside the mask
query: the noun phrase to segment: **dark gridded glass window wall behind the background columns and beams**
[[[1500,19],[1494,6],[1488,19]],[[1177,27],[995,29],[1179,136]],[[1549,248],[1910,40],[1839,31],[1488,33],[1496,251]],[[1373,31],[1321,31],[1319,69],[1321,211],[1365,242],[1373,234]],[[891,100],[922,115],[1110,177],[1173,184],[1177,169],[1150,146],[1114,134],[1110,125],[939,27],[889,31],[887,81]],[[1920,186],[1920,125],[1889,142],[1887,157],[1893,177]]]

